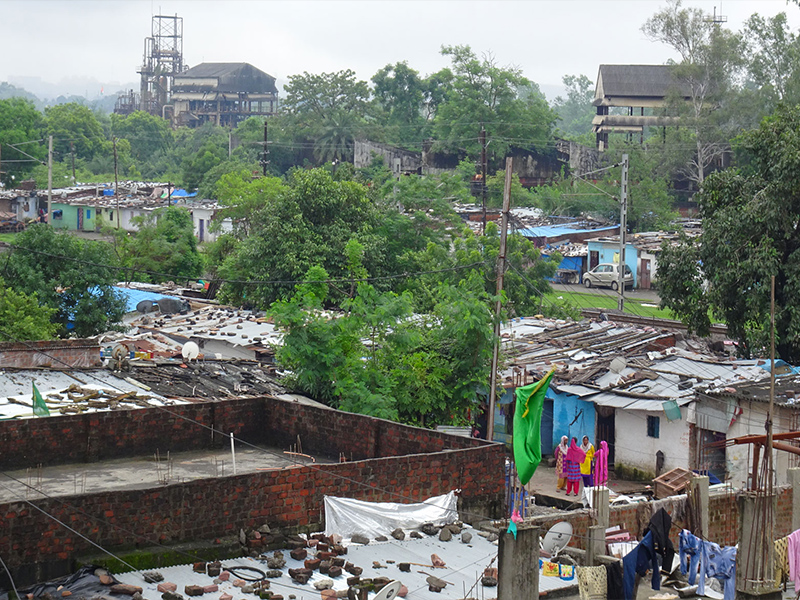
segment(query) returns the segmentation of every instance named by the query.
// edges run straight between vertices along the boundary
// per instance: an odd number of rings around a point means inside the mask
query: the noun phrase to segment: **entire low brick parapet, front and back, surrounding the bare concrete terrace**
[[[501,512],[505,451],[499,444],[275,399],[185,405],[170,411],[278,447],[294,443],[298,434],[306,451],[338,456],[352,446],[356,460],[146,490],[37,499],[36,506],[109,549],[213,540],[263,523],[279,528],[320,526],[325,495],[408,502],[460,489],[459,510],[465,520]],[[50,449],[37,450],[25,435]],[[157,409],[0,423],[2,460],[9,448],[5,444],[13,441],[47,464],[48,456],[87,439],[93,449],[76,449],[72,454],[77,460],[131,455],[145,448],[150,454],[149,443],[160,444],[162,450],[167,444],[183,448],[215,443],[208,430]],[[0,555],[22,582],[69,571],[76,556],[93,550],[25,502],[0,504]]]

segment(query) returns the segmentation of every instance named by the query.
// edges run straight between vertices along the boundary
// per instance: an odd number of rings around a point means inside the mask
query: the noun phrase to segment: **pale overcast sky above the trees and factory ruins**
[[[714,8],[739,29],[753,12],[785,11],[800,27],[800,8],[785,0],[686,0]],[[249,62],[274,75],[353,69],[369,79],[388,63],[407,61],[428,74],[447,65],[442,45],[491,51],[520,67],[552,95],[565,74],[594,80],[600,63],[660,64],[673,55],[648,41],[644,21],[665,6],[651,0],[238,1],[0,0],[0,81],[37,94],[94,97],[104,86],[135,84],[153,14],[183,17],[184,61]],[[40,89],[34,89],[39,87]]]

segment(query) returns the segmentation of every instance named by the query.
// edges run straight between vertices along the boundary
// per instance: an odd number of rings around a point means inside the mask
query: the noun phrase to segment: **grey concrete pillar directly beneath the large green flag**
[[[498,600],[539,600],[539,528],[517,526],[500,535]]]

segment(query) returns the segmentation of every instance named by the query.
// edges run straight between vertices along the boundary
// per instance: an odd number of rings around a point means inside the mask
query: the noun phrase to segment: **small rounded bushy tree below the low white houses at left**
[[[168,206],[136,219],[138,231],[123,239],[121,256],[126,267],[137,270],[137,281],[185,281],[202,275],[203,257],[188,209]]]

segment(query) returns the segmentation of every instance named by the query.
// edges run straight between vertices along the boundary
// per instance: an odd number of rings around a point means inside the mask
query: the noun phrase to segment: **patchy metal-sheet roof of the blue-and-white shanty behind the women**
[[[687,404],[698,391],[768,377],[755,360],[732,360],[655,327],[524,318],[506,323],[502,335],[513,357],[507,382],[555,367],[553,387],[616,408],[661,410],[666,400]]]

